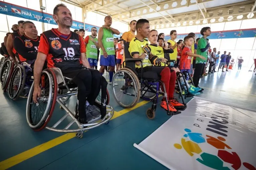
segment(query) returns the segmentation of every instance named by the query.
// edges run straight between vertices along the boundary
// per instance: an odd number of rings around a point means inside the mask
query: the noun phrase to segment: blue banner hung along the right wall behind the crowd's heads
[[[200,33],[195,33],[196,39],[203,37]],[[187,34],[178,34],[176,40],[184,39]],[[250,38],[256,37],[256,28],[251,29],[240,29],[240,30],[229,30],[229,31],[214,31],[207,37],[208,39],[227,39],[227,38]],[[166,35],[165,40],[169,40],[170,35]]]

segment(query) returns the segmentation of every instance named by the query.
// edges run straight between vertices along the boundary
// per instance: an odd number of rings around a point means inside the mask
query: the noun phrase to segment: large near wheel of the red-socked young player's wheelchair
[[[123,79],[117,76],[120,72],[124,73]],[[116,81],[118,81],[118,86],[115,86]],[[128,68],[121,68],[115,73],[112,80],[112,90],[116,102],[125,108],[135,106],[140,99],[141,87],[139,79]]]

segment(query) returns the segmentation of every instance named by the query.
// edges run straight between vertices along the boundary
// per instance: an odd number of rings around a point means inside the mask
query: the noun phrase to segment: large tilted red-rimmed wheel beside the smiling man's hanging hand
[[[38,98],[38,103],[33,102],[33,83],[26,105],[27,122],[34,131],[40,131],[47,125],[56,104],[57,79],[51,69],[42,71],[39,85],[41,87],[41,97]]]

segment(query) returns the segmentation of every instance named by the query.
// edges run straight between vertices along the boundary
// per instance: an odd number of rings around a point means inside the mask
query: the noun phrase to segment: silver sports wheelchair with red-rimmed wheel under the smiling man
[[[87,120],[87,124],[80,123],[75,116],[75,113],[70,111],[64,102],[67,101],[70,96],[77,94],[77,85],[72,82],[72,79],[63,77],[59,68],[43,70],[40,78],[40,86],[41,97],[38,98],[38,103],[33,102],[33,82],[28,94],[26,104],[27,123],[34,131],[40,131],[46,128],[55,132],[76,132],[76,137],[82,138],[84,131],[93,129],[102,124],[107,124],[114,115],[113,108],[108,105],[108,91],[106,92],[107,94],[103,94],[105,90],[103,90],[104,87],[101,87],[102,93],[99,93],[94,103],[96,109],[100,111],[101,115],[99,117],[92,117],[92,119]],[[102,95],[106,95],[106,97],[102,98]],[[67,113],[61,117],[52,127],[49,127],[46,125],[52,116],[56,101],[65,111],[67,111]],[[71,122],[65,128],[57,128],[65,119],[68,121],[71,120]],[[72,127],[74,123],[77,124],[77,128]]]

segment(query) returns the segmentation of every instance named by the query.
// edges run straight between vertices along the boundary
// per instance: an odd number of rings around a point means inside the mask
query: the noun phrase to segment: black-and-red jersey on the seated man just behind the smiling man
[[[13,40],[13,48],[17,52],[17,58],[20,62],[27,61],[29,64],[34,62],[37,56],[39,39],[37,36],[36,39],[31,39],[26,35],[22,35],[14,38]]]

